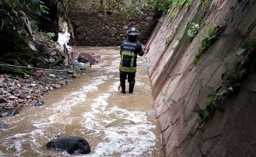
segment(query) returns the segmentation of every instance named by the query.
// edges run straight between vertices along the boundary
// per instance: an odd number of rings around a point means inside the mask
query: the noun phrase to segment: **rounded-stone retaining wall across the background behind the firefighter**
[[[139,32],[139,41],[145,44],[149,39],[157,19],[152,11],[144,11],[144,15],[122,17],[117,13],[100,11],[69,12],[70,23],[75,38],[71,38],[70,45],[82,46],[118,46],[127,37],[127,30],[135,26]]]

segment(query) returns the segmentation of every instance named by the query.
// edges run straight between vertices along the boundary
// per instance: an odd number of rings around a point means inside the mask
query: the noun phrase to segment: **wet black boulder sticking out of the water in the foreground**
[[[70,155],[76,153],[88,154],[91,152],[88,141],[78,136],[58,137],[49,141],[46,146],[50,150],[66,150]]]

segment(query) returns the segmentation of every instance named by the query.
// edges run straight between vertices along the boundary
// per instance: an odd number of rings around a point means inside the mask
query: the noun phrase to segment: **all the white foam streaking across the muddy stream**
[[[109,56],[116,55],[112,54],[113,50],[103,51],[107,52]],[[107,76],[93,77],[78,89],[67,92],[64,97],[60,98],[51,107],[45,107],[44,112],[47,114],[45,119],[35,119],[35,121],[32,122],[32,126],[35,127],[32,131],[25,130],[25,133],[17,133],[16,135],[1,138],[3,148],[7,150],[16,149],[16,152],[9,156],[14,156],[14,154],[15,156],[22,156],[28,149],[35,149],[35,151],[42,156],[42,153],[40,153],[42,150],[38,148],[42,148],[42,142],[40,143],[40,141],[45,139],[50,140],[47,133],[51,133],[51,130],[48,130],[48,128],[52,128],[55,123],[63,123],[64,125],[71,124],[72,117],[68,116],[70,115],[71,108],[81,104],[81,102],[89,102],[86,103],[86,107],[89,111],[85,112],[82,116],[79,115],[82,117],[81,123],[83,124],[80,130],[81,133],[85,132],[88,133],[86,135],[102,138],[97,139],[99,143],[94,143],[95,146],[93,145],[93,150],[90,154],[81,156],[152,156],[154,146],[156,145],[156,137],[152,130],[155,130],[156,126],[147,120],[145,112],[121,109],[116,105],[107,108],[109,107],[107,106],[109,105],[107,99],[111,97],[111,94],[117,92],[119,86],[119,77],[114,78],[115,74],[119,73],[119,62],[120,59],[117,59],[112,61],[109,66],[102,67],[102,63],[103,65],[107,64],[104,61],[99,63],[99,65],[93,65],[93,68],[101,68],[104,73],[107,73]],[[102,93],[102,91],[97,92],[98,86],[104,84],[109,79],[114,79],[115,82],[109,85],[106,93]],[[136,84],[137,86],[144,86],[144,83],[140,82],[139,79],[136,80]],[[93,93],[90,94],[90,96],[93,95],[92,100],[91,97],[88,97],[88,93]],[[99,94],[99,96],[96,96],[96,94]],[[94,98],[94,95],[96,98]],[[48,113],[50,115],[48,115]],[[132,120],[135,124],[105,127],[107,123],[117,119]],[[59,132],[63,131],[63,128],[54,129],[60,129],[57,130]],[[13,143],[13,141],[15,141],[15,143]],[[22,148],[22,143],[30,143],[30,148]],[[0,156],[4,155],[5,154],[0,150]],[[63,151],[58,154],[55,153],[53,156],[70,155]]]

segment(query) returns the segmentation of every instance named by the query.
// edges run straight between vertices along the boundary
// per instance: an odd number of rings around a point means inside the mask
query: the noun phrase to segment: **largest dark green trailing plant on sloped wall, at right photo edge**
[[[206,120],[214,115],[216,109],[222,114],[224,110],[221,107],[222,101],[231,96],[235,91],[239,91],[242,81],[249,73],[250,67],[255,67],[256,38],[249,43],[245,43],[237,52],[234,67],[222,73],[221,79],[224,86],[219,87],[215,93],[210,93],[207,96],[206,109],[199,109],[198,115],[201,120]]]

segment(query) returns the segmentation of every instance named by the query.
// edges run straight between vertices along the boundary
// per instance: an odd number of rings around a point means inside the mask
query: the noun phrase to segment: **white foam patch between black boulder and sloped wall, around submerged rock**
[[[117,83],[111,85],[114,86]],[[91,110],[83,114],[83,125],[94,134],[104,132],[104,137],[96,146],[90,156],[112,156],[120,154],[121,156],[141,156],[149,155],[153,152],[155,146],[155,134],[153,129],[155,125],[147,120],[145,112],[129,111],[120,109],[117,106],[106,110],[107,98],[109,93],[103,94],[94,99],[90,105]],[[104,126],[116,119],[109,115],[116,115],[117,119],[127,119],[135,122],[135,125],[121,125],[114,127]]]

